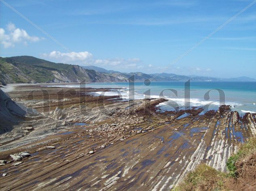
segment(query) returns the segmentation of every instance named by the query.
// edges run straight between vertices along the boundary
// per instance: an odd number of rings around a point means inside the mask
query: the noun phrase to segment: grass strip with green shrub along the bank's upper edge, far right
[[[229,176],[236,178],[237,177],[237,167],[236,163],[239,160],[255,154],[256,152],[256,138],[248,139],[247,143],[241,144],[239,150],[236,154],[233,154],[228,161],[226,162],[226,167],[229,172]]]

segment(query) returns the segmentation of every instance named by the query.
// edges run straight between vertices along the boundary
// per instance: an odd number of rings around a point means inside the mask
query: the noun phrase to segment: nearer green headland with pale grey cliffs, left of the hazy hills
[[[0,58],[0,79],[1,84],[128,81],[122,75],[99,73],[78,65],[54,63],[32,56]]]

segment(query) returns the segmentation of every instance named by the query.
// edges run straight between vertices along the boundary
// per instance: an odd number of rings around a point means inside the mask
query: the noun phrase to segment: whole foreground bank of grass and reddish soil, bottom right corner
[[[256,190],[256,138],[241,144],[226,166],[228,173],[222,173],[200,164],[173,191]]]

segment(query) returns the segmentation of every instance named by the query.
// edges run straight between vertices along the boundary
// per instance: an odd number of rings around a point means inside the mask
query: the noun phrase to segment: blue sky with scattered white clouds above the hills
[[[256,78],[256,3],[198,44],[254,0],[5,2],[11,8],[0,0],[2,57],[127,73]]]

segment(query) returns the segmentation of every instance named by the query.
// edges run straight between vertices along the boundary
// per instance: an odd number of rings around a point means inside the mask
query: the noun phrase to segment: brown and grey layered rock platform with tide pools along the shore
[[[36,112],[4,124],[1,190],[171,189],[200,163],[226,171],[237,145],[256,136],[256,115],[241,118],[228,106],[159,112],[164,99],[129,102],[94,91],[109,89],[22,85],[8,92]]]

